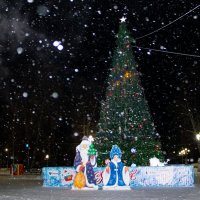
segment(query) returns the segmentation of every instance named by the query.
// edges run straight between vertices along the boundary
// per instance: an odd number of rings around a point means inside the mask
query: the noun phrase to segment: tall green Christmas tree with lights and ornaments
[[[133,43],[126,24],[121,23],[95,140],[100,165],[114,144],[122,149],[127,165],[149,165],[154,156],[162,160],[158,134],[136,69]]]

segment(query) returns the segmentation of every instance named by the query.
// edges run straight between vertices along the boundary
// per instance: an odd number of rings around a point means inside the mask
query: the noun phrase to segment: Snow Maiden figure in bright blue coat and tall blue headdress
[[[110,151],[111,161],[103,172],[103,189],[129,189],[129,170],[121,162],[122,153],[117,145]]]

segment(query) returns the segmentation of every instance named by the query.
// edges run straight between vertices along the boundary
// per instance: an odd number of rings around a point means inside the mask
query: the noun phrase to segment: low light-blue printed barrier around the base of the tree
[[[103,186],[104,168],[94,168],[95,178],[100,190]],[[76,172],[73,167],[44,167],[42,169],[44,187],[73,187]],[[192,165],[171,165],[164,167],[129,168],[130,187],[193,187],[194,168]],[[90,188],[86,188],[90,190]],[[125,188],[124,188],[125,189]],[[114,188],[113,190],[117,190]],[[119,190],[119,188],[118,188]]]

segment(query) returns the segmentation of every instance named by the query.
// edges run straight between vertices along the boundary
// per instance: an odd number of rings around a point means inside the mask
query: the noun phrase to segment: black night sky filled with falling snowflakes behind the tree
[[[28,143],[33,167],[41,166],[46,154],[51,165],[72,164],[82,136],[97,131],[124,16],[136,39],[135,59],[166,157],[177,159],[187,147],[188,157],[197,158],[200,7],[145,35],[198,3],[0,0],[0,157],[5,147],[10,153],[14,147],[16,162],[26,162]]]

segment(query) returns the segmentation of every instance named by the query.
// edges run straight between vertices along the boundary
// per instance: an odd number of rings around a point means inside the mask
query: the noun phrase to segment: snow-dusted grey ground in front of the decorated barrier
[[[192,188],[146,188],[130,191],[72,191],[66,188],[44,188],[37,177],[0,176],[0,200],[199,200],[200,184]]]

